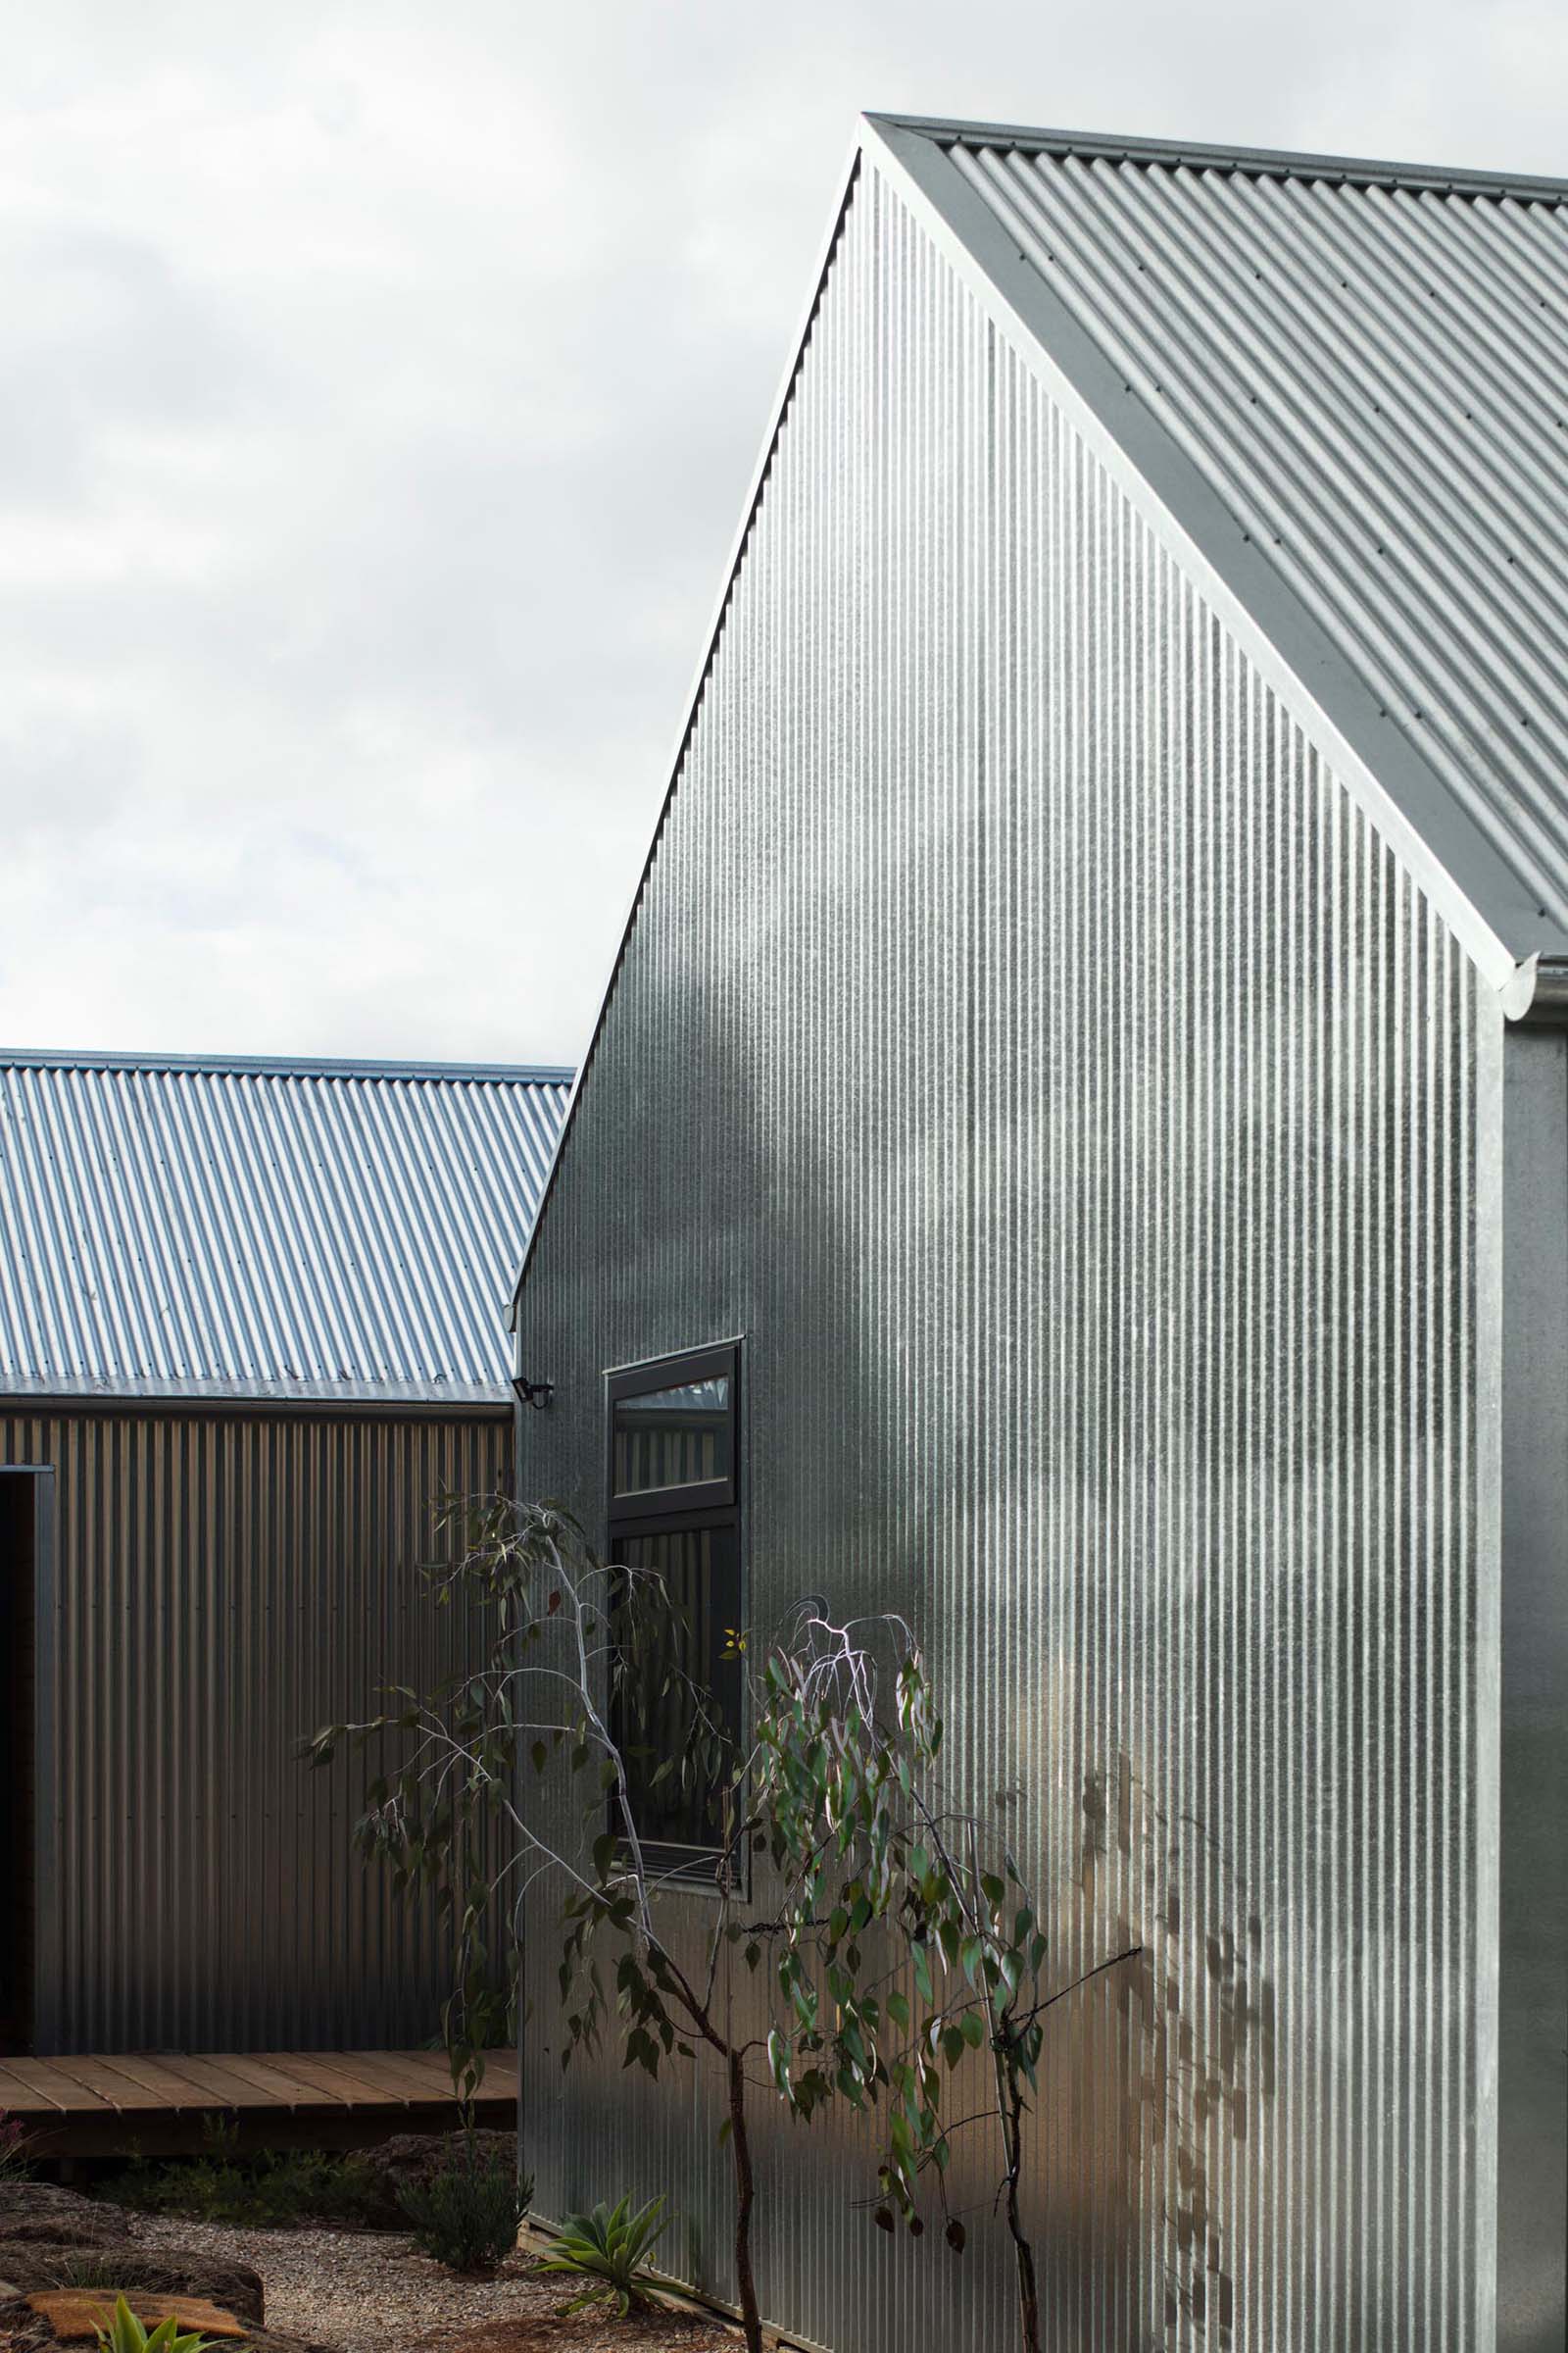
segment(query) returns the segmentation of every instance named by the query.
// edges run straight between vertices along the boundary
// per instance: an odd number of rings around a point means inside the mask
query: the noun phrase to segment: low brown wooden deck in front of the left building
[[[214,2122],[244,2148],[362,2148],[393,2132],[449,2132],[444,2052],[89,2052],[0,2059],[0,2113],[47,2158],[172,2155]],[[517,2122],[517,2052],[489,2052],[477,2122]]]

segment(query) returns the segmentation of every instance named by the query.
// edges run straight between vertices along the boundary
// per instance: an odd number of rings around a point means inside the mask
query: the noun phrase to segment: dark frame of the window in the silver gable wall
[[[729,1457],[722,1478],[686,1480],[679,1487],[639,1487],[616,1494],[616,1407],[625,1398],[644,1398],[661,1388],[682,1388],[691,1381],[726,1379],[726,1438]],[[741,1391],[741,1341],[715,1341],[705,1348],[677,1348],[670,1355],[646,1358],[642,1365],[618,1365],[604,1374],[604,1515],[607,1558],[614,1562],[616,1544],[637,1537],[677,1537],[701,1529],[729,1529],[733,1534],[733,1624],[745,1626],[748,1574],[743,1544],[741,1492],[743,1471],[743,1391]],[[736,1737],[745,1727],[736,1725]],[[611,1828],[621,1828],[611,1809]],[[672,1840],[642,1838],[644,1861],[654,1878],[684,1889],[712,1889],[719,1878],[719,1852],[712,1847],[689,1847]],[[745,1887],[745,1857],[731,1857],[733,1885]]]

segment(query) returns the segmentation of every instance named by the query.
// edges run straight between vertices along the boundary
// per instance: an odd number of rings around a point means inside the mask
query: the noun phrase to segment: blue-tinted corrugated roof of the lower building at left
[[[0,1395],[505,1400],[569,1082],[0,1049]]]

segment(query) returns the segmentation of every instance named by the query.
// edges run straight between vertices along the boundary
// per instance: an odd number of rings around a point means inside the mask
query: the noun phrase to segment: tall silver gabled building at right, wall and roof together
[[[907,1612],[1143,1946],[1072,2353],[1563,2346],[1566,384],[1568,184],[863,122],[527,1254],[527,1489]],[[722,2087],[562,2097],[543,1925],[541,2202],[724,2292]],[[992,2151],[961,2261],[865,2193],[778,2113],[773,2318],[1013,2341]]]

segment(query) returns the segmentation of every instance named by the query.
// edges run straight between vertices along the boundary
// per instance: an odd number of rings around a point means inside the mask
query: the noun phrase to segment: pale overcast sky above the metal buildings
[[[858,108],[1568,169],[1561,0],[0,26],[0,1045],[576,1059]]]

